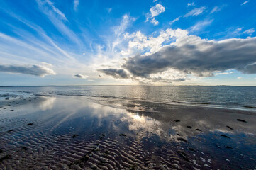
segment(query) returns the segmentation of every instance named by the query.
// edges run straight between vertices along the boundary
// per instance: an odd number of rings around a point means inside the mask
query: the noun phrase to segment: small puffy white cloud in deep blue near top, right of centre
[[[155,16],[158,16],[160,13],[163,12],[165,12],[165,7],[161,4],[156,4],[155,6],[150,8],[150,13],[147,13],[145,22],[148,22],[150,20],[150,23],[154,24],[154,26],[157,26],[159,22],[155,19]]]

